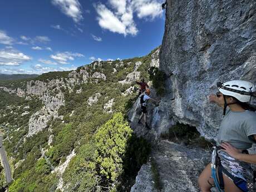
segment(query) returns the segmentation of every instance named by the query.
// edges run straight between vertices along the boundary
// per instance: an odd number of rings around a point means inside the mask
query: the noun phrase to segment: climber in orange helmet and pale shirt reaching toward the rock
[[[142,113],[140,115],[140,119],[139,119],[139,124],[142,124],[141,122],[141,118],[142,116],[144,116],[144,122],[145,122],[145,125],[147,129],[150,129],[150,127],[147,125],[147,120],[146,120],[146,113],[147,113],[147,101],[149,100],[152,100],[152,101],[155,101],[155,102],[160,102],[160,101],[157,101],[157,100],[154,100],[152,99],[151,97],[149,97],[150,95],[150,90],[149,88],[146,89],[145,93],[141,95],[140,97],[140,105],[141,105],[141,110],[142,110]]]

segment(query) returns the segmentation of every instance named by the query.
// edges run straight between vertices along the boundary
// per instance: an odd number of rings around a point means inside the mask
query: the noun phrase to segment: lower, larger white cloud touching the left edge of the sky
[[[31,60],[32,58],[24,53],[13,50],[0,50],[0,66],[19,66],[21,63]]]

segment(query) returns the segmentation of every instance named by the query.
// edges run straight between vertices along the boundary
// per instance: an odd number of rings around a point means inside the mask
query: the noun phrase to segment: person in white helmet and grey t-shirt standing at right
[[[252,187],[248,185],[251,164],[256,165],[256,154],[247,151],[256,143],[256,112],[248,102],[255,97],[256,88],[242,80],[218,82],[217,86],[219,92],[210,95],[209,101],[223,107],[224,118],[212,162],[200,174],[198,183],[202,192],[210,192],[213,186],[218,191],[247,192]]]

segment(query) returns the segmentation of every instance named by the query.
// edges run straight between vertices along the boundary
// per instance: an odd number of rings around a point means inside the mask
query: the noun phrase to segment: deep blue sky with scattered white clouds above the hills
[[[164,0],[2,0],[0,73],[74,70],[161,45]]]

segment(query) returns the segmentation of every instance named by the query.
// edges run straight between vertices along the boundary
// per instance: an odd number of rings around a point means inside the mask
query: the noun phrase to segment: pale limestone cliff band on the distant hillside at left
[[[62,105],[65,105],[64,95],[61,91],[62,88],[66,88],[69,92],[72,92],[76,85],[99,79],[106,80],[106,76],[99,72],[95,72],[90,76],[85,66],[84,69],[79,72],[71,71],[68,73],[67,78],[55,78],[50,81],[28,81],[26,89],[24,90],[22,88],[12,90],[7,87],[0,87],[0,89],[14,93],[19,97],[25,97],[28,100],[31,99],[32,96],[36,96],[42,101],[42,109],[33,114],[29,119],[27,136],[32,136],[45,129],[47,122],[52,117],[60,117],[58,116],[58,109],[60,109]],[[79,90],[77,91],[79,92]]]

